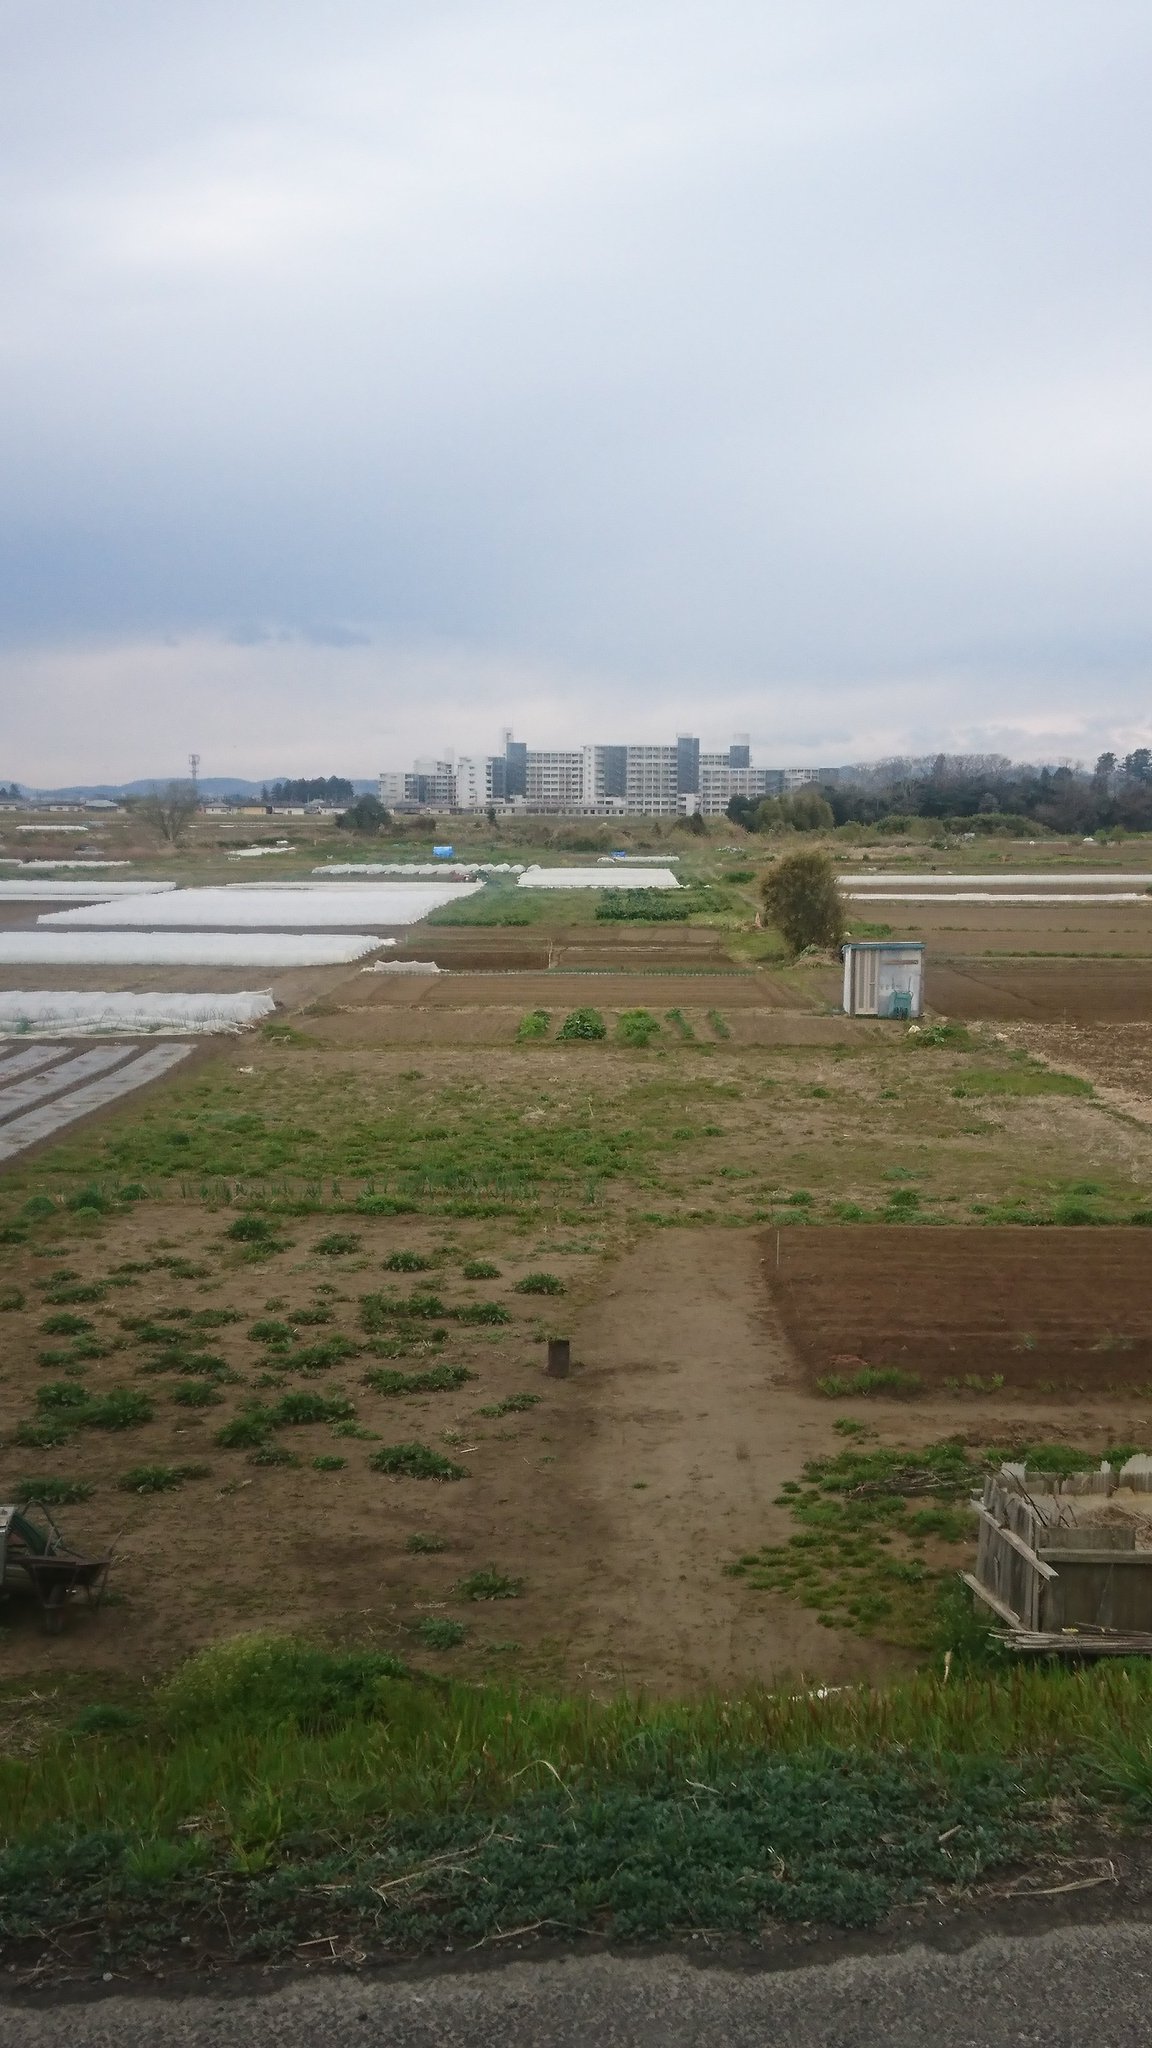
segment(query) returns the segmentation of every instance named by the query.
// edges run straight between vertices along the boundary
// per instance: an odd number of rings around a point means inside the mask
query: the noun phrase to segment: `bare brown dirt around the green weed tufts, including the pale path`
[[[207,1280],[143,1274],[117,1290],[113,1309],[86,1313],[115,1337],[121,1313],[205,1303],[242,1309],[240,1323],[201,1339],[244,1374],[236,1397],[215,1409],[180,1409],[172,1403],[178,1382],[139,1378],[129,1335],[123,1352],[92,1366],[90,1384],[146,1386],[156,1419],[113,1436],[80,1432],[57,1450],[18,1450],[12,1419],[29,1413],[29,1393],[51,1372],[35,1364],[45,1341],[37,1307],[0,1319],[4,1470],[12,1479],[49,1473],[88,1481],[92,1499],[61,1509],[59,1520],[76,1542],[92,1550],[113,1544],[117,1554],[113,1602],[76,1616],[59,1638],[45,1638],[35,1614],[8,1608],[4,1665],[12,1675],[51,1683],[64,1673],[115,1679],[160,1671],[242,1628],[334,1632],[404,1655],[416,1649],[420,1661],[461,1675],[502,1673],[594,1692],[625,1683],[689,1694],[799,1675],[828,1683],[879,1675],[900,1669],[904,1653],[822,1628],[783,1595],[750,1593],[724,1577],[724,1563],[791,1532],[787,1513],[773,1505],[779,1487],[806,1458],[842,1448],[838,1415],[855,1415],[896,1444],[955,1432],[972,1442],[1011,1440],[1033,1425],[1011,1389],[996,1397],[924,1393],[916,1403],[812,1393],[773,1307],[765,1272],[773,1241],[763,1231],[658,1231],[613,1260],[590,1241],[541,1243],[492,1221],[461,1225],[433,1276],[400,1276],[402,1284],[430,1278],[449,1300],[498,1298],[512,1309],[510,1329],[453,1331],[435,1354],[467,1364],[476,1380],[455,1395],[385,1399],[363,1386],[363,1370],[377,1364],[371,1356],[291,1380],[346,1391],[377,1440],[420,1438],[459,1458],[469,1477],[451,1485],[383,1477],[369,1466],[373,1442],[334,1438],[322,1423],[279,1432],[299,1466],[258,1468],[244,1452],[211,1442],[219,1417],[234,1413],[240,1397],[260,1393],[254,1368],[262,1354],[246,1335],[248,1319],[320,1298],[316,1280],[324,1276],[336,1286],[326,1296],[332,1327],[357,1335],[355,1298],[389,1284],[394,1276],[381,1272],[389,1249],[445,1253],[441,1223],[379,1219],[357,1225],[359,1257],[322,1260],[310,1247],[326,1223],[293,1223],[291,1251],[260,1266],[232,1264],[232,1253],[221,1266],[219,1219],[176,1206],[152,1210],[148,1225],[127,1219],[98,1245],[70,1249],[74,1270],[107,1272],[133,1253],[156,1255],[164,1241],[211,1264]],[[152,1235],[156,1229],[164,1237]],[[836,1235],[849,1233],[812,1231],[804,1241],[834,1255]],[[902,1243],[914,1235],[904,1233]],[[459,1262],[476,1251],[496,1255],[500,1282],[469,1288],[459,1280]],[[568,1380],[545,1376],[539,1343],[541,1329],[560,1321],[558,1305],[512,1292],[512,1280],[541,1264],[568,1286],[562,1321],[576,1360]],[[420,1360],[400,1364],[418,1368]],[[484,1415],[523,1393],[539,1405]],[[1045,1399],[1035,1427],[1101,1452],[1115,1440],[1146,1442],[1152,1397],[1127,1393],[1103,1405],[1099,1397]],[[344,1470],[314,1470],[312,1458],[326,1454],[344,1454]],[[146,1462],[205,1462],[209,1477],[178,1493],[121,1493],[117,1475]],[[447,1548],[412,1556],[412,1532],[443,1536]],[[523,1575],[523,1597],[461,1602],[453,1591],[461,1573],[488,1565]],[[428,1614],[463,1620],[467,1647],[439,1657],[418,1647],[412,1630]]]

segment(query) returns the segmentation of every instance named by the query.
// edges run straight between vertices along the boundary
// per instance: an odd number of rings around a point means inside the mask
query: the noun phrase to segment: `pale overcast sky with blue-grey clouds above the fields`
[[[0,776],[1152,737],[1148,0],[0,0]]]

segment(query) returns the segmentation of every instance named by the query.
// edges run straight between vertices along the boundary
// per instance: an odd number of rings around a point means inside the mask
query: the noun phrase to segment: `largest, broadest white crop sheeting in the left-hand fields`
[[[439,889],[424,889],[404,883],[387,889],[365,883],[363,889],[351,883],[334,883],[332,889],[244,887],[234,883],[223,889],[176,889],[172,895],[137,903],[94,903],[80,909],[49,911],[41,926],[131,926],[135,930],[223,930],[223,932],[275,932],[275,930],[340,930],[365,924],[416,924],[430,909],[455,903],[457,897],[474,895],[484,883],[441,883]]]

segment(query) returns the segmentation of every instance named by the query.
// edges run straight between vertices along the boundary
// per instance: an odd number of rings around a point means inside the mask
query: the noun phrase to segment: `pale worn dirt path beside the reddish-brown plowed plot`
[[[658,1231],[580,1317],[584,1450],[574,1513],[594,1530],[570,1661],[586,1679],[689,1692],[818,1671],[892,1671],[722,1565],[791,1528],[773,1507],[804,1458],[838,1448],[775,1325],[754,1231]]]

